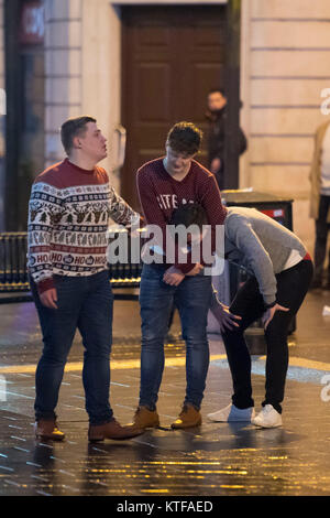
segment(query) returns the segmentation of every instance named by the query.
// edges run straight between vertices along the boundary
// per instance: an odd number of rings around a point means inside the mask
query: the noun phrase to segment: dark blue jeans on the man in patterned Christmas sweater
[[[78,328],[85,347],[82,381],[91,424],[111,421],[109,404],[113,295],[108,271],[89,277],[54,276],[57,310],[42,305],[31,282],[44,348],[35,374],[35,417],[56,418],[64,367]]]

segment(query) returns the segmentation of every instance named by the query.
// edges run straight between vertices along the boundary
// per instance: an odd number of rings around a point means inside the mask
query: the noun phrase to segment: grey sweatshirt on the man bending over
[[[224,257],[257,280],[265,305],[276,302],[275,274],[285,269],[293,250],[307,250],[290,230],[255,208],[227,207]]]

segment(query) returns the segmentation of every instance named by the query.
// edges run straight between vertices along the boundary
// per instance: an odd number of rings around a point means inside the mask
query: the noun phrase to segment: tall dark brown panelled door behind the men
[[[140,208],[135,173],[164,154],[169,128],[187,120],[207,131],[206,99],[224,85],[226,6],[122,9],[121,193]],[[197,160],[206,165],[204,148]]]

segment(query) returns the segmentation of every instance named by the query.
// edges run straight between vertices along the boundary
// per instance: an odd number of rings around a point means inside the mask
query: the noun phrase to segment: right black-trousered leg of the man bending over
[[[301,261],[276,276],[278,304],[289,307],[289,311],[276,311],[265,331],[267,359],[266,396],[263,406],[272,404],[279,413],[288,367],[288,328],[306,296],[311,278],[311,261]]]

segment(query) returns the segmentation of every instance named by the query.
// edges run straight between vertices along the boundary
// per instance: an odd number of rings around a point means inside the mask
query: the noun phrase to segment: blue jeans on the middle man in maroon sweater
[[[144,265],[140,305],[142,320],[140,406],[154,410],[164,370],[164,339],[173,304],[179,311],[186,341],[185,403],[199,409],[209,367],[207,315],[211,300],[211,278],[186,277],[178,287],[163,281],[166,267]]]

